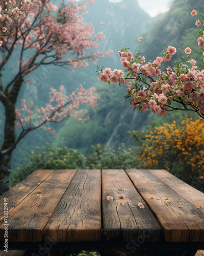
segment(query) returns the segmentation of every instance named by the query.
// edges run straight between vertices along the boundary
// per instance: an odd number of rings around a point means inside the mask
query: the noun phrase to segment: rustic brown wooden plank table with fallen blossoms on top
[[[36,170],[0,197],[1,246],[5,198],[9,250],[165,256],[204,249],[204,208],[197,208],[204,194],[165,170]]]

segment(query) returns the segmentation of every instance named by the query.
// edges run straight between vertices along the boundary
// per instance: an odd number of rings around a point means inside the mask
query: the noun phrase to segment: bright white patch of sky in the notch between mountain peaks
[[[122,0],[109,0],[111,3],[119,3]],[[126,0],[128,1],[128,0]],[[141,9],[147,12],[151,17],[160,13],[167,12],[172,0],[137,0]]]

